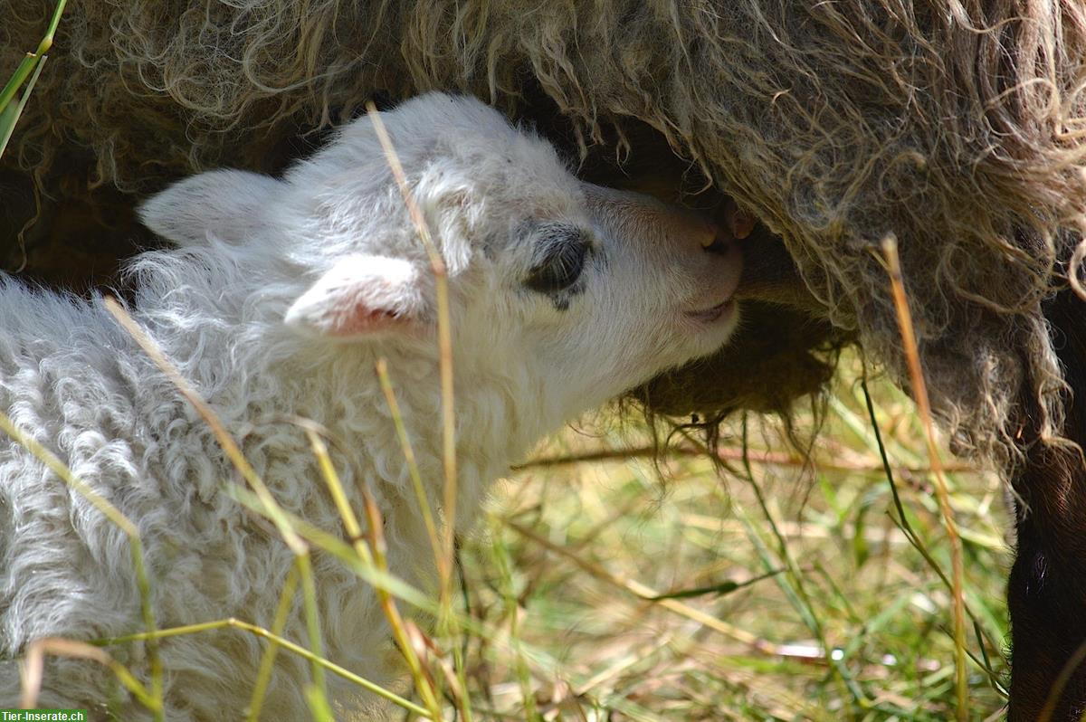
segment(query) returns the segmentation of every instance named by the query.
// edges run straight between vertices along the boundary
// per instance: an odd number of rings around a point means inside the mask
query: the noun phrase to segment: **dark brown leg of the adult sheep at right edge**
[[[1086,448],[1086,304],[1063,292],[1046,304],[1071,387],[1063,434]],[[1086,711],[1086,468],[1074,448],[1039,442],[1032,379],[1021,394],[1025,465],[1014,474],[1018,549],[1008,583],[1011,691],[1008,719],[1053,722]]]

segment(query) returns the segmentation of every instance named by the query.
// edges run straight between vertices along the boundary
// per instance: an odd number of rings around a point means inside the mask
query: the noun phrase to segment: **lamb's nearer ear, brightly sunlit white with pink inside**
[[[409,262],[352,255],[337,263],[287,311],[285,321],[325,339],[409,332],[428,317],[422,275]]]

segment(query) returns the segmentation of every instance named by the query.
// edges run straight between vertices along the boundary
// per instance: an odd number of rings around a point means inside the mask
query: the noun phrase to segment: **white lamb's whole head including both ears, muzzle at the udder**
[[[707,219],[579,181],[472,99],[432,93],[381,117],[447,266],[467,384],[502,379],[554,425],[734,329],[740,254]],[[378,344],[437,363],[433,274],[370,118],[282,180],[204,174],[143,216],[182,244],[210,233],[275,258],[298,281],[283,320],[328,353]]]

